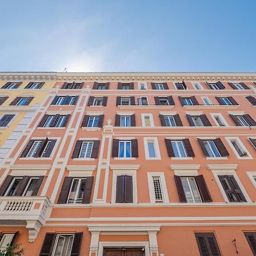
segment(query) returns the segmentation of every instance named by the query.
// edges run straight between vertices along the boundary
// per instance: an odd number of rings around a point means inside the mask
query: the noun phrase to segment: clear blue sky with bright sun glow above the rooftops
[[[256,72],[255,0],[1,1],[0,71]]]

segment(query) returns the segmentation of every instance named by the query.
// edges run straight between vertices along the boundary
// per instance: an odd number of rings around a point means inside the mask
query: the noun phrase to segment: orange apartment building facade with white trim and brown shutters
[[[255,73],[20,76],[53,88],[1,163],[0,248],[256,255]]]

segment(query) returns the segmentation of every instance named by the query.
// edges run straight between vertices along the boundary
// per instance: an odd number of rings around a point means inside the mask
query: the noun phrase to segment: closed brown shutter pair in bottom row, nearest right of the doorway
[[[221,256],[214,233],[196,233],[201,256]]]

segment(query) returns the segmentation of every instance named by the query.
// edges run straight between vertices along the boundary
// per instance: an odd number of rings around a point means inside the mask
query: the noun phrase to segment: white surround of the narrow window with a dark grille
[[[169,197],[166,187],[166,179],[164,177],[164,172],[147,172],[147,182],[148,182],[148,189],[150,194],[150,203],[152,204],[161,204],[155,201],[155,189],[153,183],[153,177],[158,176],[160,177],[160,184],[163,196],[163,203],[169,203]]]

